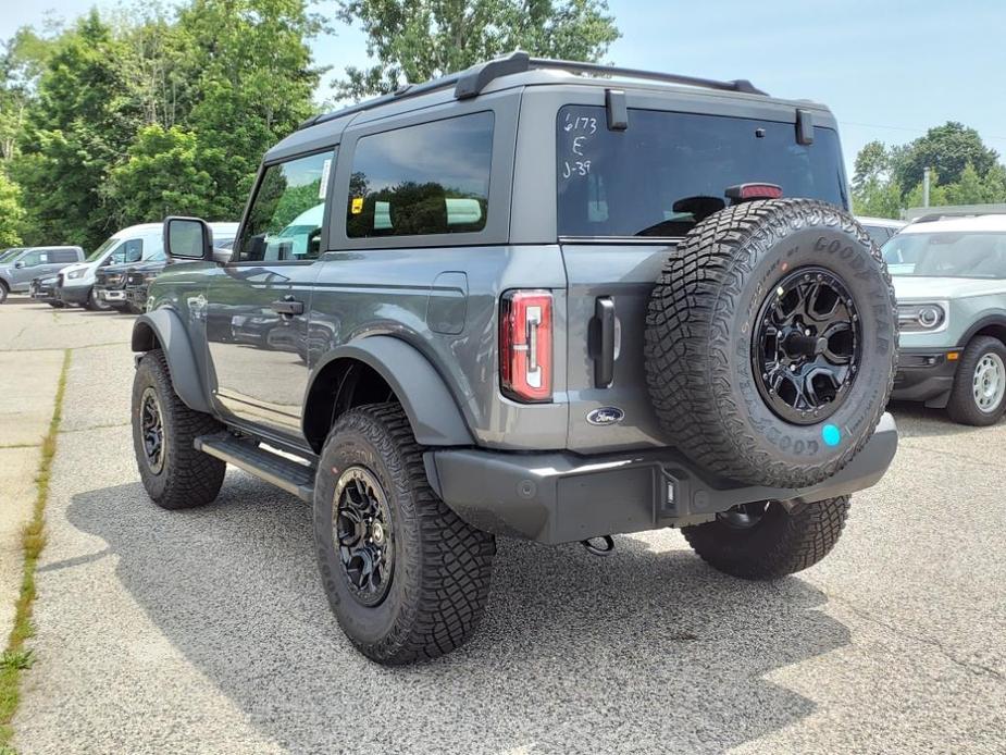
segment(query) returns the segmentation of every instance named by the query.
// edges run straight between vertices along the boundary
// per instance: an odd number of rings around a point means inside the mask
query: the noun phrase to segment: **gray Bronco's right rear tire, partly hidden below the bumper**
[[[797,504],[735,506],[716,521],[681,532],[703,560],[745,580],[772,580],[814,566],[839,542],[848,497]]]

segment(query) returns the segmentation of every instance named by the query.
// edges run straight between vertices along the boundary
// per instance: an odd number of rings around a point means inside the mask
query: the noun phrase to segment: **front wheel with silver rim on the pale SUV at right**
[[[946,413],[955,422],[986,426],[1006,410],[1006,346],[998,338],[978,336],[960,356]]]

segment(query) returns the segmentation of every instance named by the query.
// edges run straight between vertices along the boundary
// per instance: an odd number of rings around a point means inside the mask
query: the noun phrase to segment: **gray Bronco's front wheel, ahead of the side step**
[[[144,487],[165,509],[209,504],[220,493],[227,465],[196,450],[200,435],[223,425],[189,409],[171,384],[160,349],[142,356],[133,381],[133,449]]]

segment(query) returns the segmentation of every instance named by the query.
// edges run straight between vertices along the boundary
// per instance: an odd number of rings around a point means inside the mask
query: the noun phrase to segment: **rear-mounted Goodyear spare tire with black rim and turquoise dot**
[[[650,398],[670,444],[710,472],[803,487],[880,421],[897,310],[880,250],[847,213],[773,199],[698,223],[649,301]]]

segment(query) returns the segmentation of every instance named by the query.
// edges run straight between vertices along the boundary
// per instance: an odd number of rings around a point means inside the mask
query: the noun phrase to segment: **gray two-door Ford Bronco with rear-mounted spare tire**
[[[229,463],[311,504],[383,664],[472,634],[497,535],[676,527],[736,577],[805,569],[897,446],[894,294],[847,209],[831,113],[745,81],[518,52],[314,117],[232,256],[165,220],[144,485],[204,505]]]

